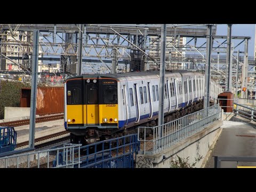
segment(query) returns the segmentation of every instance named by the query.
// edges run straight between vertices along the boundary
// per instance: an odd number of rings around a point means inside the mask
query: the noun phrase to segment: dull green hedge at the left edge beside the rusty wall
[[[4,118],[4,107],[19,107],[21,88],[30,87],[28,83],[1,81],[0,119]]]

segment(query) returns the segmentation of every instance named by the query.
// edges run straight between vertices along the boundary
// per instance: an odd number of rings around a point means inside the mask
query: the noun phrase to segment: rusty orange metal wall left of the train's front
[[[21,90],[22,92],[22,90]],[[29,105],[30,105],[30,95]],[[25,100],[21,98],[20,106],[25,105]],[[26,103],[26,107],[28,103]],[[36,114],[54,114],[64,112],[64,87],[37,87]]]

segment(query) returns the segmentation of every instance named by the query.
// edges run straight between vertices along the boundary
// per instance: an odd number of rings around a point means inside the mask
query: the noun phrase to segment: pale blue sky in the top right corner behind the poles
[[[217,25],[217,35],[227,35],[228,27],[226,24]],[[248,56],[253,57],[254,51],[254,36],[255,36],[255,24],[234,24],[231,28],[232,36],[250,36],[248,41]],[[235,45],[238,41],[234,42]],[[244,51],[244,43],[237,47],[239,51]]]

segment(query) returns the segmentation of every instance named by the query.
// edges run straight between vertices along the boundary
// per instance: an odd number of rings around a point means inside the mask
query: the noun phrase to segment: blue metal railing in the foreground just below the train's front
[[[134,155],[140,147],[137,134],[125,135],[123,137],[100,141],[86,145],[78,150],[74,149],[76,161],[80,158],[80,164],[74,167],[78,168],[132,168],[134,164]],[[59,165],[66,164],[69,161],[70,151],[66,154],[57,155]],[[57,164],[57,157],[53,166]]]

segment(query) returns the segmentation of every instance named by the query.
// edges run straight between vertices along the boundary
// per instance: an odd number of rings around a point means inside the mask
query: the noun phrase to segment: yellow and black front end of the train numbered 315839
[[[117,80],[99,75],[65,82],[65,129],[73,141],[100,138],[118,127]]]

